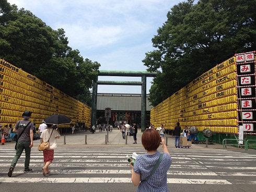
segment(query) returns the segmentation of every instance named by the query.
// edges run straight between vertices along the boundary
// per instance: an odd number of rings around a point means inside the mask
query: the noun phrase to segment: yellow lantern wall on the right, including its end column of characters
[[[255,77],[255,52],[236,54],[153,107],[150,123],[174,129],[180,122],[225,134],[243,126],[255,134]]]

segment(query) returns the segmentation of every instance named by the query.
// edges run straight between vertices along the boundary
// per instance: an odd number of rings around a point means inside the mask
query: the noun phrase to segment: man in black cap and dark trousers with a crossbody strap
[[[14,126],[13,132],[17,133],[18,142],[17,142],[16,155],[14,156],[13,162],[11,162],[10,169],[8,172],[9,177],[11,177],[11,175],[13,174],[14,167],[17,161],[19,160],[20,155],[22,154],[24,149],[26,153],[24,173],[33,171],[32,169],[29,169],[30,152],[31,152],[31,148],[33,147],[33,129],[34,129],[33,123],[29,121],[31,114],[32,112],[25,111],[22,114],[22,117],[24,119],[18,121]]]

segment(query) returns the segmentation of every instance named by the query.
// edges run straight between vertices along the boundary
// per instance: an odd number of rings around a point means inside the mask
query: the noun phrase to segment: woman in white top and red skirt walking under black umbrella
[[[53,124],[46,124],[47,128],[43,130],[40,138],[41,143],[49,140],[49,149],[43,151],[44,166],[42,167],[43,176],[49,174],[49,165],[53,161],[54,150],[57,149],[57,139],[60,139],[61,135],[57,128],[53,128]]]

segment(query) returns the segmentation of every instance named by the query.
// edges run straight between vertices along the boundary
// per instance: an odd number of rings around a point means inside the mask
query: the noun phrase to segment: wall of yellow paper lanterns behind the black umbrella
[[[26,110],[33,112],[30,119],[37,125],[56,113],[90,125],[90,107],[0,59],[0,123],[15,124]]]

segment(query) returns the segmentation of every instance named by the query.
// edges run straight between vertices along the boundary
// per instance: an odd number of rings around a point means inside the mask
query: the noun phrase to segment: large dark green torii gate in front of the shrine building
[[[147,71],[112,71],[101,70],[98,76],[121,76],[121,77],[142,77],[142,81],[93,81],[92,82],[92,103],[91,103],[91,126],[96,125],[97,112],[97,92],[98,85],[128,85],[142,86],[142,111],[141,111],[141,130],[146,127],[146,77],[156,77],[157,73]],[[109,106],[111,107],[111,106]]]

